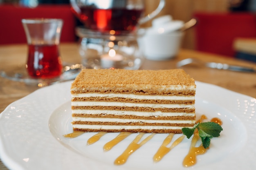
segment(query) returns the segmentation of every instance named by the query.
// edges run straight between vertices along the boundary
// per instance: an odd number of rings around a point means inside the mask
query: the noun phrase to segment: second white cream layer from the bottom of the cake
[[[118,122],[118,123],[148,123],[148,124],[193,124],[193,120],[146,120],[146,119],[118,119],[118,118],[91,118],[91,117],[72,117],[73,121],[90,122]]]

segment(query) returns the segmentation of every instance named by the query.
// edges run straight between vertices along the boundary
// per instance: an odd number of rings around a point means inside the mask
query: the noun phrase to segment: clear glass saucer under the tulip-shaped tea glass
[[[82,68],[82,64],[63,64],[63,73],[59,77],[52,79],[36,79],[29,77],[25,66],[17,66],[16,68],[12,68],[11,71],[0,71],[0,77],[16,82],[24,82],[27,85],[44,87],[75,79]]]

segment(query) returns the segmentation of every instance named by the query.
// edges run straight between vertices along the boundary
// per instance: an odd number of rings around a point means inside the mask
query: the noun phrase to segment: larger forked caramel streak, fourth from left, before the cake
[[[151,135],[146,137],[143,141],[141,141],[139,144],[137,144],[144,134],[145,133],[139,133],[139,135],[137,135],[137,137],[130,143],[130,145],[126,148],[126,150],[115,160],[114,163],[116,165],[122,165],[126,163],[128,157],[133,152],[139,149],[142,145],[146,144],[146,142],[149,141],[155,135],[155,133],[152,133]]]

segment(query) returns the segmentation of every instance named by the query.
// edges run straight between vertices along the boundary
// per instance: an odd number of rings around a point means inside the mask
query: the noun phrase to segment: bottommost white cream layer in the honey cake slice
[[[191,126],[193,127],[193,126]],[[187,128],[191,128],[187,127]],[[82,125],[74,124],[73,128],[93,129],[93,130],[122,130],[122,129],[146,129],[146,130],[180,130],[181,126],[111,126],[111,125]]]

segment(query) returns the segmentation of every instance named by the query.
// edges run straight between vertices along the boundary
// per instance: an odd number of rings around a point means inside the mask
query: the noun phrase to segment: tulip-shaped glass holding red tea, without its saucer
[[[22,19],[25,29],[28,57],[27,71],[32,78],[49,79],[62,74],[59,42],[61,19]]]

